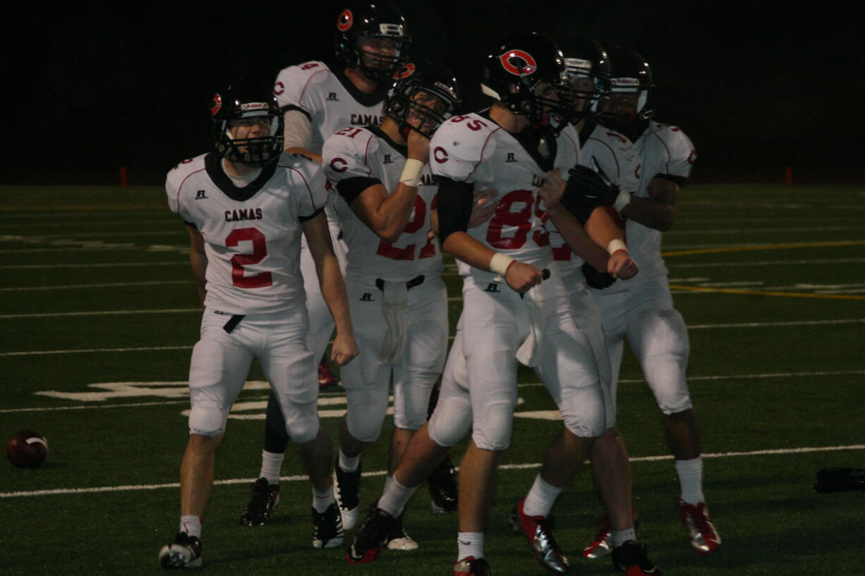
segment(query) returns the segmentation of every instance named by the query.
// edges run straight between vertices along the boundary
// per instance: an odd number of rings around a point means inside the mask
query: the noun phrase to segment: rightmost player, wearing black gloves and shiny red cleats
[[[709,519],[702,491],[700,437],[685,379],[688,330],[673,307],[661,257],[661,235],[676,220],[679,191],[690,175],[696,151],[681,128],[651,119],[654,83],[643,56],[629,48],[612,48],[609,54],[612,93],[605,122],[633,140],[642,163],[637,193],[616,206],[640,276],[631,283],[616,282],[594,291],[612,360],[612,393],[615,397],[627,338],[663,413],[670,451],[676,458],[679,512],[690,545],[698,554],[711,554],[721,546],[721,536]]]

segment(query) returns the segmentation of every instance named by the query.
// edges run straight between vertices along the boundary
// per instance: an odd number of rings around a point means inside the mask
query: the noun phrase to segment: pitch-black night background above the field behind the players
[[[589,0],[397,1],[416,59],[485,104],[484,55],[509,33],[584,35],[642,52],[656,119],[694,141],[702,182],[862,182],[859,3]],[[243,75],[330,59],[334,0],[62,4],[3,9],[2,184],[161,184],[210,150],[205,103]]]

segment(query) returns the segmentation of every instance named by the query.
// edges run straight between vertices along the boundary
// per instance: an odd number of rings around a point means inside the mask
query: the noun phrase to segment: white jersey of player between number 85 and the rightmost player
[[[589,137],[580,145],[580,165],[604,172],[610,182],[628,194],[637,194],[640,181],[640,156],[637,146],[623,134],[606,126],[595,125]],[[562,174],[567,178],[567,174]],[[611,212],[614,210],[611,209]],[[624,225],[615,214],[613,218]],[[583,264],[583,260],[573,253],[565,239],[549,225],[549,242],[553,246],[553,257],[559,264],[561,275],[567,276]]]

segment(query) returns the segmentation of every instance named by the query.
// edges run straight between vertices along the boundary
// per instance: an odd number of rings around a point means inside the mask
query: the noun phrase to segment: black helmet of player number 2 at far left
[[[210,118],[216,150],[231,162],[264,167],[276,162],[282,154],[283,116],[270,90],[246,80],[235,82],[214,94],[210,100]],[[269,134],[235,139],[229,123],[243,118],[269,118]]]

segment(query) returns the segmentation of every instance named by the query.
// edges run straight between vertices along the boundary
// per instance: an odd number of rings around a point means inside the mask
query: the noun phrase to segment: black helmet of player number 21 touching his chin
[[[460,105],[457,79],[440,64],[409,63],[400,67],[394,78],[384,100],[384,113],[394,118],[406,134],[414,130],[431,138]]]

